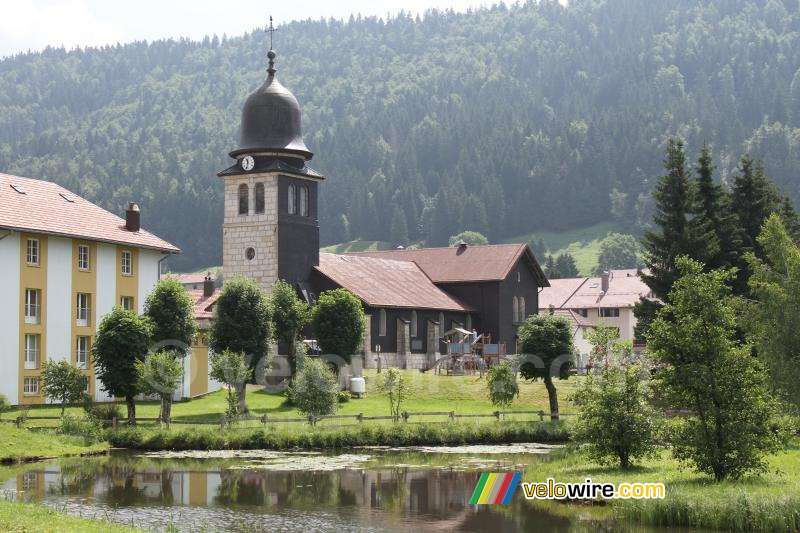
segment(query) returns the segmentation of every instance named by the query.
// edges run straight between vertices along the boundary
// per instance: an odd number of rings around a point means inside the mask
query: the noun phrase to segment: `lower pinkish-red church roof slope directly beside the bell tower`
[[[411,261],[322,253],[315,268],[370,307],[473,311],[434,285]]]

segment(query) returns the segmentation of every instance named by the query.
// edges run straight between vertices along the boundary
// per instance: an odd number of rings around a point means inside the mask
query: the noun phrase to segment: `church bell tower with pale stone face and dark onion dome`
[[[239,147],[230,152],[236,161],[217,174],[225,186],[223,275],[251,278],[267,292],[283,279],[308,299],[319,264],[323,177],[307,165],[313,154],[303,141],[300,106],[277,80],[275,57],[270,46],[267,79],[242,109]]]

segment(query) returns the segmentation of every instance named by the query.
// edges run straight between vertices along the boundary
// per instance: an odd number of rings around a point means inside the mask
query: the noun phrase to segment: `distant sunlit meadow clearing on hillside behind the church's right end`
[[[504,242],[531,243],[541,239],[551,255],[569,252],[575,257],[580,274],[582,276],[590,276],[597,267],[601,241],[614,231],[616,231],[616,228],[613,223],[601,222],[594,226],[568,231],[537,231],[505,239]],[[536,259],[542,263],[544,262],[544,257],[537,257]]]

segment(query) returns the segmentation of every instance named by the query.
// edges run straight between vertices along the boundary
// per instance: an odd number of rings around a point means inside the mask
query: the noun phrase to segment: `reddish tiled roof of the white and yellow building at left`
[[[2,173],[0,228],[180,252],[148,231],[128,231],[125,220],[60,185]]]

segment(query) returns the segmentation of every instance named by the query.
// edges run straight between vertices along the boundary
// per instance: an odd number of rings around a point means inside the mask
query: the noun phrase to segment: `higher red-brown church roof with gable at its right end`
[[[547,277],[527,244],[353,252],[348,255],[413,261],[434,283],[502,281],[508,277],[514,265],[526,257],[539,278],[540,286],[547,286]]]

